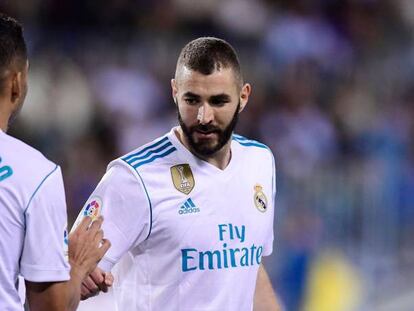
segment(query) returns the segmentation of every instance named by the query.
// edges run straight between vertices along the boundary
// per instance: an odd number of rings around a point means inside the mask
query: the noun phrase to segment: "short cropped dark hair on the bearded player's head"
[[[184,46],[177,61],[176,76],[181,66],[200,72],[212,74],[221,68],[233,69],[236,79],[243,84],[239,58],[234,48],[223,39],[201,37]]]

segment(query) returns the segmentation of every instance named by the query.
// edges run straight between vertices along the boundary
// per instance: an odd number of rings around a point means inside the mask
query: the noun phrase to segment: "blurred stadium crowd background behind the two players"
[[[72,222],[113,158],[176,123],[180,48],[238,50],[238,132],[276,155],[286,310],[414,310],[414,1],[1,0],[30,90],[11,133],[61,164]],[[224,310],[223,310],[224,311]]]

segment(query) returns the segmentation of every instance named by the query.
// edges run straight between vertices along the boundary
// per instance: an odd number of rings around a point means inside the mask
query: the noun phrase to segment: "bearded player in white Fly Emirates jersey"
[[[184,47],[172,80],[180,126],[110,163],[78,218],[104,215],[112,241],[85,296],[128,253],[117,310],[278,310],[262,265],[273,244],[273,155],[233,134],[250,92],[228,43]]]

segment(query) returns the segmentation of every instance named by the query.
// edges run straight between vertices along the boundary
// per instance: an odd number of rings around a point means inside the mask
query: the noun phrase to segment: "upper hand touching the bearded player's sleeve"
[[[91,217],[86,216],[69,235],[71,275],[79,277],[81,281],[96,268],[111,246],[109,240],[103,238],[102,222],[101,216],[93,222]]]

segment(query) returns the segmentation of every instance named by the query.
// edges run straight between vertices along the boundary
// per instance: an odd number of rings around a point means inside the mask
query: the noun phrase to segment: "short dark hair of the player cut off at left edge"
[[[8,69],[18,61],[23,65],[27,60],[23,27],[14,18],[0,13],[0,71]]]

